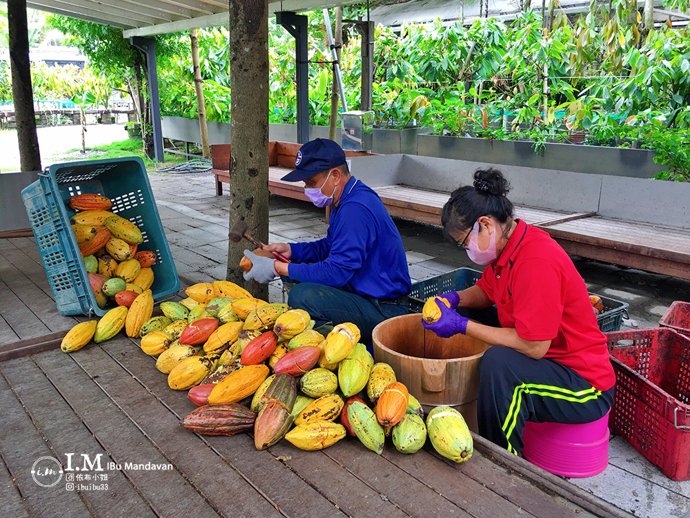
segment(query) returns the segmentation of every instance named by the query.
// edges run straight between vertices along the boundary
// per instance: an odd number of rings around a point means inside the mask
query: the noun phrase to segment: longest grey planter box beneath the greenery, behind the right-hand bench
[[[417,136],[417,155],[420,156],[633,178],[653,178],[664,170],[664,166],[655,164],[655,154],[647,149],[547,143],[544,156],[540,156],[532,149],[531,142]]]

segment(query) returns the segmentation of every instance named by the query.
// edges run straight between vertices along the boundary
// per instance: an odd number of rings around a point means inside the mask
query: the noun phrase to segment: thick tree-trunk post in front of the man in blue
[[[268,0],[230,0],[230,225],[268,241]],[[245,285],[246,241],[228,247],[227,280]],[[250,247],[251,249],[252,247]],[[268,299],[268,286],[247,289]]]

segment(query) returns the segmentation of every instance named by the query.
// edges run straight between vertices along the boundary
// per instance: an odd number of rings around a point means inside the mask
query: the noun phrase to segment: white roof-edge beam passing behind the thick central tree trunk
[[[359,0],[331,0],[326,7],[346,6],[357,3]],[[324,0],[284,0],[271,2],[268,4],[268,15],[273,15],[277,11],[304,12],[324,7]],[[171,23],[160,23],[148,27],[138,27],[135,29],[124,30],[123,37],[132,36],[153,36],[177,32],[180,30],[199,29],[204,27],[228,26],[228,11],[219,12],[215,15],[201,16],[189,20],[173,21]]]

